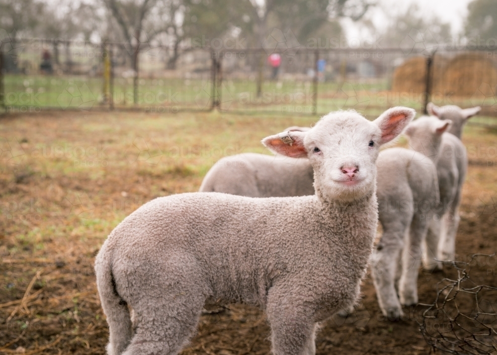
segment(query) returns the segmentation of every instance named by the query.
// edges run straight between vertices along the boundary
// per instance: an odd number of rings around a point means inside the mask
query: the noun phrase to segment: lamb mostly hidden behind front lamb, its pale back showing
[[[288,127],[283,132],[306,132]],[[248,197],[314,195],[314,171],[307,159],[243,153],[220,159],[207,172],[200,192],[224,192]]]

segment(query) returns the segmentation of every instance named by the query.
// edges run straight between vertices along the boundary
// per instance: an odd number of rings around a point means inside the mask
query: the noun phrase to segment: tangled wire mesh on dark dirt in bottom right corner
[[[497,354],[497,287],[478,285],[470,278],[472,266],[488,266],[491,260],[497,260],[496,254],[474,254],[467,262],[448,263],[457,277],[437,283],[435,302],[423,305],[428,308],[419,324],[430,354]]]

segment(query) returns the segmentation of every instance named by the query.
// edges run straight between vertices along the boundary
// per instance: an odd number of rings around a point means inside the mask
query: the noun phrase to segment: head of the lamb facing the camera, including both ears
[[[374,190],[379,147],[397,137],[414,114],[394,107],[371,122],[353,110],[338,111],[309,131],[282,132],[262,143],[275,153],[310,159],[318,195],[349,202]]]

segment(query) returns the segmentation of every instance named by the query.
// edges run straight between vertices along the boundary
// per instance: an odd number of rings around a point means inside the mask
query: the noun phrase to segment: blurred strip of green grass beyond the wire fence
[[[354,108],[360,112],[377,111],[390,106],[403,105],[420,110],[422,94],[389,91],[386,79],[347,80],[345,82],[318,83],[314,95],[312,80],[266,80],[260,96],[254,78],[249,80],[223,79],[219,91],[213,92],[209,73],[201,78],[140,78],[135,105],[132,78],[115,78],[112,98],[115,107],[135,108],[144,112],[174,113],[180,110],[207,110],[212,96],[221,95],[220,107],[233,113],[284,115],[312,115],[337,109]],[[5,76],[5,106],[9,112],[36,112],[41,108],[94,109],[107,108],[103,79],[84,76],[12,75]],[[437,104],[458,104],[461,107],[486,105],[492,97],[438,97]],[[486,107],[487,113],[493,110]],[[487,122],[489,121],[489,122]],[[486,124],[496,125],[493,118]]]

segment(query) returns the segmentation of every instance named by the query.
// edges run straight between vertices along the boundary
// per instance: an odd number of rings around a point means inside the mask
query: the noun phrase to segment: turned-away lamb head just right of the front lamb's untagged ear
[[[436,162],[442,142],[442,134],[450,124],[450,120],[441,121],[435,116],[419,117],[411,122],[406,129],[409,146],[416,152],[422,153],[433,162]]]

